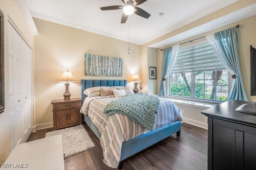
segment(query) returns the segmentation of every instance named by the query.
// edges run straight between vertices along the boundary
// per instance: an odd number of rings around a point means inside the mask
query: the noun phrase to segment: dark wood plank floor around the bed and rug
[[[65,170],[108,170],[103,163],[98,138],[84,125],[95,147],[65,159]],[[52,128],[37,130],[28,141],[44,138]],[[186,123],[182,124],[180,137],[176,134],[150,146],[124,160],[124,170],[206,170],[207,130]]]

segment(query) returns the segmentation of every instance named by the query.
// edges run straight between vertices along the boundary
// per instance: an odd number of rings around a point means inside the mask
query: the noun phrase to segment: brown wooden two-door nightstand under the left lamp
[[[53,130],[60,128],[82,125],[82,116],[80,108],[82,99],[75,98],[71,100],[52,100],[53,105]]]

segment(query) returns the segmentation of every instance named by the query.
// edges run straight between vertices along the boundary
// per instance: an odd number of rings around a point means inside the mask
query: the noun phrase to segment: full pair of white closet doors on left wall
[[[10,149],[32,131],[31,49],[8,23]]]

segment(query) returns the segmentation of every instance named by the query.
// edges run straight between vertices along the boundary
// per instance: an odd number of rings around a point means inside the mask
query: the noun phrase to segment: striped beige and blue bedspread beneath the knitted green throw
[[[149,130],[140,126],[122,114],[108,116],[103,114],[104,107],[119,97],[92,97],[84,100],[81,113],[88,115],[92,123],[98,128],[103,150],[103,162],[112,168],[117,168],[120,160],[122,143],[135,138]],[[180,109],[170,99],[160,98],[160,108],[156,114],[154,129],[182,120]]]

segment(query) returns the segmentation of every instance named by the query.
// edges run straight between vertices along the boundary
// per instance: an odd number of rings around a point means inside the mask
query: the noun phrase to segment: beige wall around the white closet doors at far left
[[[4,12],[4,93],[5,109],[0,114],[0,163],[4,162],[10,153],[10,134],[9,134],[9,67],[8,67],[8,18],[12,20],[19,33],[25,41],[34,48],[34,35],[26,24],[16,0],[0,0],[0,9]],[[10,120],[12,121],[12,120]],[[15,162],[13,162],[15,163]]]

